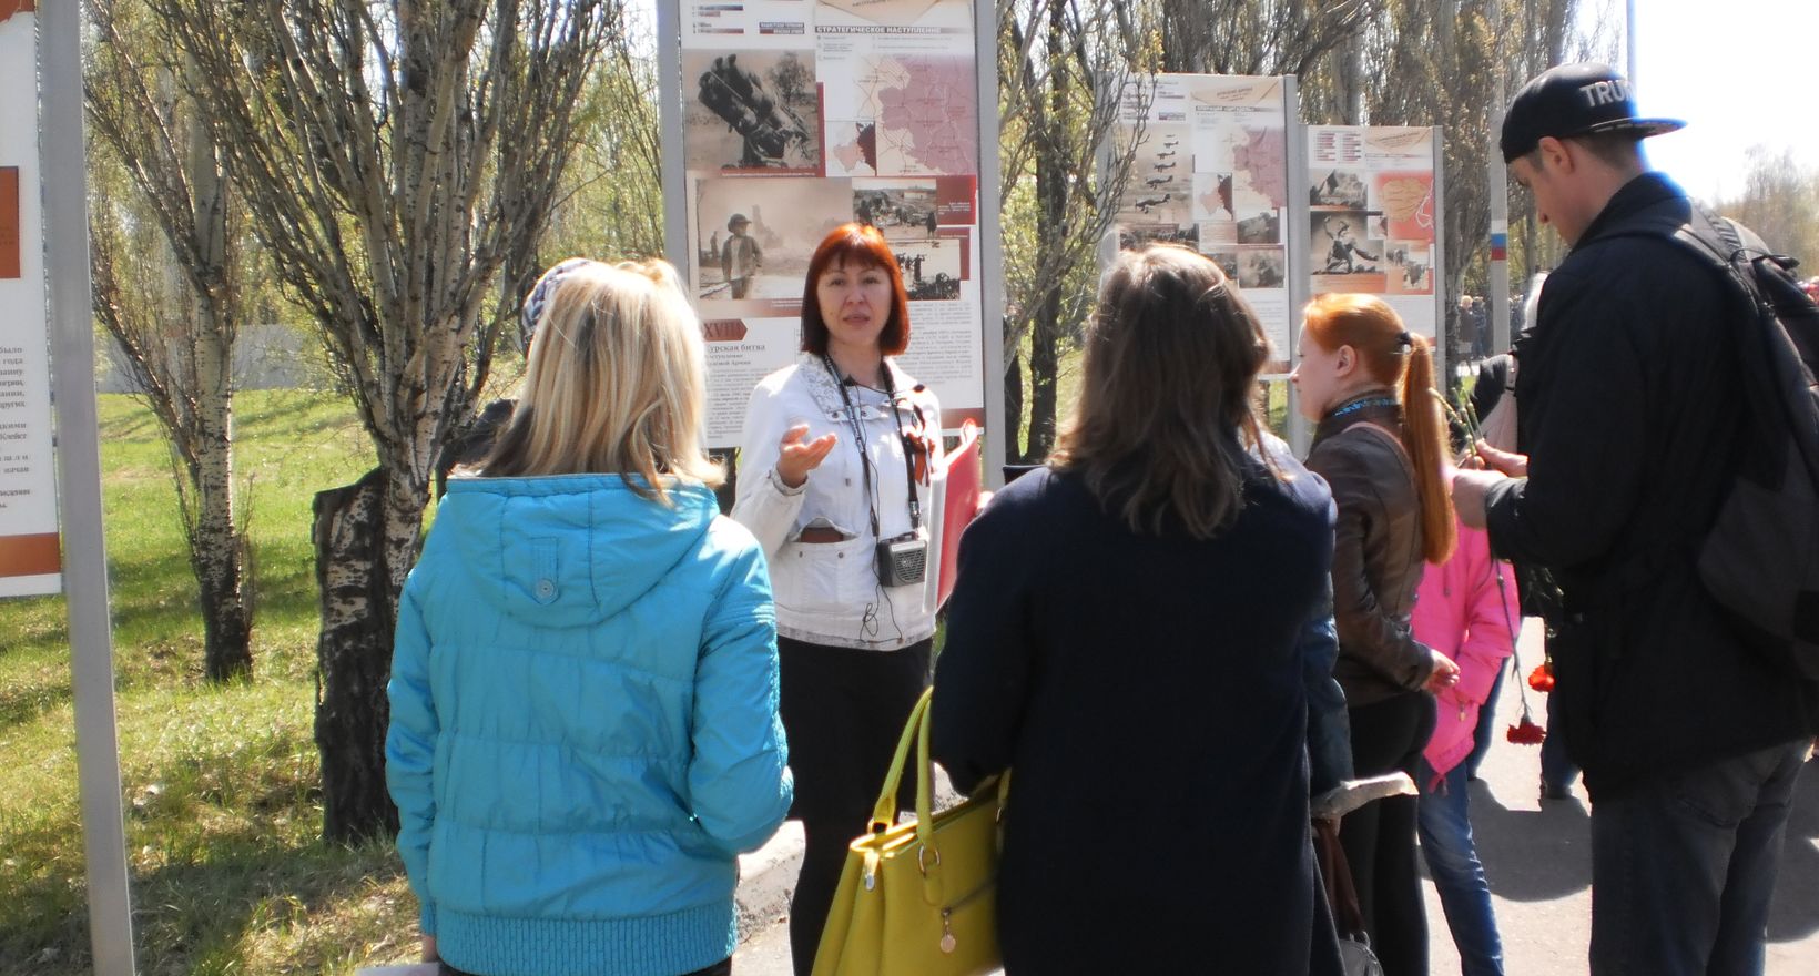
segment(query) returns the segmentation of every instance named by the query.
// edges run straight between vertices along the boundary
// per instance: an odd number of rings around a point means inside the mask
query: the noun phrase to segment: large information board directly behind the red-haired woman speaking
[[[980,113],[968,0],[680,4],[684,271],[708,336],[708,442],[799,349],[804,274],[833,227],[889,240],[910,291],[902,365],[942,427],[986,425]],[[986,11],[990,15],[990,9]],[[991,107],[995,118],[995,105]],[[666,160],[668,165],[677,165]]]

